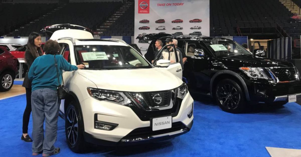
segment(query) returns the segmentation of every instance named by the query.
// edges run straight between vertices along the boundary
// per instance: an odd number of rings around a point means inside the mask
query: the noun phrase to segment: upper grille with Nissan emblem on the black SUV
[[[294,68],[273,68],[270,70],[276,75],[279,81],[296,80],[296,72]]]

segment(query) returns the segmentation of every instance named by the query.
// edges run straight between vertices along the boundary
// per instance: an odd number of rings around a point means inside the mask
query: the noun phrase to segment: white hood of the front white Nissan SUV
[[[78,70],[99,89],[124,92],[152,92],[177,88],[182,80],[163,68]]]

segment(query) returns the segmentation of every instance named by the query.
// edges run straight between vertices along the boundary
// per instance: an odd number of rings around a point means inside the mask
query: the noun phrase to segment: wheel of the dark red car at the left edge
[[[6,92],[14,85],[14,75],[8,71],[4,71],[0,75],[0,92]]]

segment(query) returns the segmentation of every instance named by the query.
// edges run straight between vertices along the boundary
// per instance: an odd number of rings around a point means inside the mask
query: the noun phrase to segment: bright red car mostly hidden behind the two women
[[[42,50],[43,50],[43,47],[44,47],[44,44],[45,43],[42,43],[41,47],[42,47]],[[27,44],[17,48],[17,50],[15,51],[10,51],[10,53],[16,57],[17,59],[18,58],[24,58],[25,56],[25,51],[26,51],[26,47],[27,47]],[[19,77],[19,62],[17,62],[17,73],[16,73],[16,78]],[[26,74],[26,71],[27,71],[27,65],[26,64],[23,64],[23,69],[22,69],[22,77],[25,77],[25,74]]]

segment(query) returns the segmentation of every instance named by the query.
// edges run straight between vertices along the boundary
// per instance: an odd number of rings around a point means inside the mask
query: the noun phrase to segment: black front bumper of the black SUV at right
[[[272,83],[245,80],[252,102],[288,101],[289,95],[301,95],[301,81]]]

